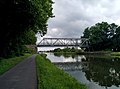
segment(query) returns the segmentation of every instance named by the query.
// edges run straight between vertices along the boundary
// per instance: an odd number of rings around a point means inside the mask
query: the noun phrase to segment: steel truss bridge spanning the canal
[[[43,38],[37,47],[88,47],[89,40],[86,38]]]

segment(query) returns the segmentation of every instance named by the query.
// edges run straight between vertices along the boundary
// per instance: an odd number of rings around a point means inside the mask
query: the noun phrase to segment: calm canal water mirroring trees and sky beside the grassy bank
[[[120,59],[47,53],[47,58],[88,89],[120,89]]]

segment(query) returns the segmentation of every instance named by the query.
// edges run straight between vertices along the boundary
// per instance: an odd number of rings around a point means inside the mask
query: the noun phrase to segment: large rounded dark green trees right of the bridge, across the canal
[[[89,38],[91,51],[120,51],[120,26],[115,23],[97,23],[84,30],[83,38]]]

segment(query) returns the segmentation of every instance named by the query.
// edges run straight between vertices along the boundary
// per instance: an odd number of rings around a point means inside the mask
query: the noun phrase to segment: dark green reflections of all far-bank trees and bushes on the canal
[[[96,58],[86,57],[79,58],[74,54],[55,53],[55,56],[64,56],[65,58],[72,57],[76,59],[74,67],[82,68],[85,72],[87,80],[96,82],[100,86],[111,87],[112,85],[119,87],[120,85],[120,59],[118,58]]]

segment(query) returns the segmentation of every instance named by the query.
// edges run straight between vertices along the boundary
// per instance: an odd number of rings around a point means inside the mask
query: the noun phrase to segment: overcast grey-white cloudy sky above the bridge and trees
[[[98,22],[120,25],[120,0],[53,0],[54,18],[44,37],[80,37]]]

